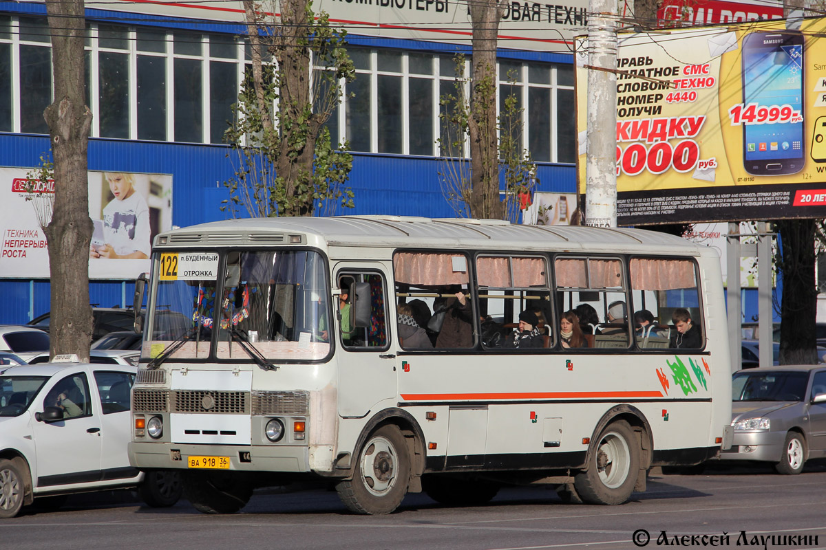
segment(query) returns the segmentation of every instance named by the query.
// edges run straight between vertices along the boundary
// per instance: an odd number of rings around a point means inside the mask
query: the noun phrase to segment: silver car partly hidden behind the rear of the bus
[[[826,365],[739,370],[732,379],[731,449],[723,460],[758,460],[803,471],[826,456]]]

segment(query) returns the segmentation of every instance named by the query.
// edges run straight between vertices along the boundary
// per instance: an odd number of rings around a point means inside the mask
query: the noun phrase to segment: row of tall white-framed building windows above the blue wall
[[[90,137],[223,142],[244,75],[242,43],[235,36],[95,22],[87,29]],[[249,59],[249,44],[243,44]],[[468,154],[466,136],[446,127],[439,114],[456,108],[441,99],[457,96],[457,77],[467,96],[469,59],[458,75],[455,59],[446,54],[358,47],[348,54],[357,74],[354,82],[339,82],[342,94],[325,124],[334,144],[346,139],[352,150],[365,153]],[[262,58],[272,63],[265,50]],[[315,76],[325,69],[315,67]],[[498,73],[499,112],[512,95],[516,110],[530,113],[504,120],[521,121],[509,130],[516,146],[529,149],[534,161],[574,162],[572,65],[501,59]],[[516,82],[509,82],[509,73]],[[43,111],[52,101],[51,80],[46,18],[0,16],[0,131],[47,134]],[[321,94],[312,91],[315,109]]]

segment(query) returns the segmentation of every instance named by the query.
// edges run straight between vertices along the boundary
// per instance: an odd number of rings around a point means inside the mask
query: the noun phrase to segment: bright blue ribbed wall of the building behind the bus
[[[0,166],[35,167],[49,150],[41,135],[0,134]],[[171,174],[173,224],[184,227],[227,219],[221,200],[229,197],[223,186],[233,174],[228,148],[221,145],[133,142],[90,139],[88,169],[92,171]],[[405,157],[353,153],[350,186],[354,209],[335,214],[398,214],[430,218],[455,216],[439,185],[436,157]],[[539,164],[537,190],[576,191],[572,165]],[[102,307],[131,304],[131,281],[94,281],[89,300]],[[0,323],[23,323],[50,310],[48,280],[0,280]]]

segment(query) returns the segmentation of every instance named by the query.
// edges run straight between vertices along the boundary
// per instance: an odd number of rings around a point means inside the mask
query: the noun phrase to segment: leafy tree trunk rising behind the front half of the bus
[[[278,66],[282,72],[278,97],[282,123],[281,154],[276,172],[284,180],[285,195],[292,197],[300,186],[309,185],[313,155],[320,123],[311,114],[310,49],[307,21],[308,0],[281,2],[282,47],[278,49]],[[296,146],[297,153],[296,153]],[[311,216],[313,202],[295,202],[283,216]]]

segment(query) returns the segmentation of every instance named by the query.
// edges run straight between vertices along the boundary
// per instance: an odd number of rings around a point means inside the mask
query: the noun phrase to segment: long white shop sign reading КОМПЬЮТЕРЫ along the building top
[[[100,9],[99,2],[86,7]],[[573,36],[587,26],[588,0],[553,2],[503,2],[505,14],[499,25],[499,47],[570,53]],[[107,10],[144,13],[146,21],[169,23],[169,16],[244,22],[244,5],[238,1],[134,2],[114,0]],[[263,2],[260,9],[278,13],[278,2]],[[330,25],[353,35],[406,40],[434,40],[470,45],[472,27],[465,0],[315,0],[315,12],[327,12]]]

